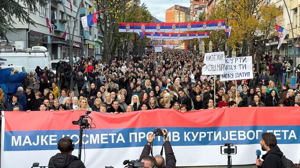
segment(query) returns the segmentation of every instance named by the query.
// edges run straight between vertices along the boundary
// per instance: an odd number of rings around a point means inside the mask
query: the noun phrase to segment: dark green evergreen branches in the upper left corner
[[[29,16],[29,8],[37,11],[36,3],[47,3],[47,0],[1,0],[0,1],[0,38],[8,42],[6,33],[17,32],[14,28],[16,22],[31,24],[35,21]]]

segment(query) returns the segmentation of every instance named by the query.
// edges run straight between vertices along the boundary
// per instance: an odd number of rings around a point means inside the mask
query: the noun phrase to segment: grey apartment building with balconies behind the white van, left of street
[[[33,46],[44,46],[51,54],[51,59],[67,59],[70,56],[70,37],[73,36],[73,56],[91,57],[101,56],[102,58],[102,38],[98,24],[83,28],[79,17],[91,14],[89,8],[93,2],[84,0],[79,4],[80,0],[52,0],[48,4],[37,2],[38,11],[29,7],[29,15],[35,21],[35,26],[22,24],[15,21],[13,25],[17,29],[17,33],[7,33],[7,39],[11,42],[24,41],[25,48]],[[64,3],[64,7],[62,5]],[[71,7],[73,11],[71,11]],[[77,10],[79,13],[76,22]],[[96,11],[96,10],[95,10]],[[95,12],[92,11],[92,12]],[[52,33],[47,23],[49,19]],[[67,21],[69,23],[67,24]],[[73,22],[70,22],[73,21]],[[69,25],[69,28],[68,28]],[[103,26],[103,25],[101,25]],[[74,28],[74,34],[73,34]],[[70,29],[70,36],[69,36]],[[67,33],[67,38],[63,38],[64,32]]]

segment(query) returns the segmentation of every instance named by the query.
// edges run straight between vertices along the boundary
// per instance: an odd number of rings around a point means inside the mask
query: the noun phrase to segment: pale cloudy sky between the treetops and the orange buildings
[[[150,13],[162,22],[166,21],[166,10],[175,4],[190,7],[189,0],[141,0],[141,4],[143,2],[145,2]]]

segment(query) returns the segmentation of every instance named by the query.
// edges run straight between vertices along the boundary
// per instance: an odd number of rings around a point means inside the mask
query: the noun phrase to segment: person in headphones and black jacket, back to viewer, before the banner
[[[57,153],[49,160],[48,166],[53,168],[85,168],[83,162],[72,155],[75,148],[74,142],[69,137],[58,140],[57,148],[61,153]]]

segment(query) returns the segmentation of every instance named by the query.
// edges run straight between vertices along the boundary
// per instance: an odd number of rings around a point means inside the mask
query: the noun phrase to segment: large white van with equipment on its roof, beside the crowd
[[[45,67],[52,68],[51,57],[47,48],[41,46],[35,46],[31,49],[22,51],[12,51],[12,52],[0,52],[0,58],[6,61],[1,61],[0,65],[3,66],[24,66],[26,72],[35,71],[37,66],[41,69]],[[11,65],[12,64],[12,65]],[[15,68],[16,69],[16,68]]]

